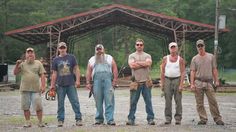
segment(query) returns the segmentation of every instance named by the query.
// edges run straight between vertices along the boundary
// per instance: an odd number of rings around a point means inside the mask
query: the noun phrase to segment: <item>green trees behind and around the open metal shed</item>
[[[6,4],[4,4],[6,2]],[[74,15],[91,9],[100,8],[109,4],[124,4],[132,7],[154,11],[157,13],[184,18],[192,21],[214,25],[215,1],[213,0],[2,0],[0,2],[0,33],[25,26],[35,25]],[[219,37],[221,53],[218,56],[220,67],[236,68],[236,1],[221,0],[220,13],[227,16],[227,27],[230,33]],[[85,38],[71,38],[74,45],[74,54],[82,67],[86,67],[88,59],[94,54],[97,43],[104,44],[106,52],[111,54],[118,66],[127,65],[128,54],[134,52],[136,38],[145,41],[145,51],[152,55],[153,64],[160,61],[168,53],[166,41],[148,34],[137,33],[129,27],[111,26],[101,29]],[[9,37],[0,38],[5,44],[5,60],[15,62],[26,47],[31,45]],[[3,41],[4,40],[4,41]],[[207,41],[207,50],[212,52],[213,40]],[[31,46],[32,47],[32,46]],[[0,48],[3,48],[0,46]],[[34,46],[37,56],[46,56],[46,45]],[[184,48],[184,58],[187,65],[196,54],[195,43],[187,41]]]

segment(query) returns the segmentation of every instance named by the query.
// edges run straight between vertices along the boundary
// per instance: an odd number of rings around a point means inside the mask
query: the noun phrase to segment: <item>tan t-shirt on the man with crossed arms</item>
[[[134,61],[146,61],[147,59],[152,60],[151,55],[142,52],[142,54],[139,54],[137,52],[134,52],[129,55],[129,62],[134,62]],[[145,82],[149,78],[149,67],[147,68],[139,68],[139,69],[132,69],[132,76],[135,77],[135,80],[138,82]]]

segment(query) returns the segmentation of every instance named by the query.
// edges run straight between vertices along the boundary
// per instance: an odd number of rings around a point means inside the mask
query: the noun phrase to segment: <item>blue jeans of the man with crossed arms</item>
[[[145,102],[145,108],[147,113],[147,121],[154,119],[154,113],[152,109],[152,100],[151,100],[151,88],[147,88],[145,84],[141,84],[138,86],[137,90],[130,91],[130,109],[128,120],[135,120],[135,112],[137,108],[137,103],[140,97],[140,93],[142,92],[143,99]]]

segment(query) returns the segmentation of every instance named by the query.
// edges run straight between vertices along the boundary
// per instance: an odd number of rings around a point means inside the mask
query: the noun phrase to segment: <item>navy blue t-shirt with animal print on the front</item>
[[[57,71],[56,84],[59,86],[71,86],[75,84],[74,67],[77,61],[74,55],[67,54],[53,59],[52,70]]]

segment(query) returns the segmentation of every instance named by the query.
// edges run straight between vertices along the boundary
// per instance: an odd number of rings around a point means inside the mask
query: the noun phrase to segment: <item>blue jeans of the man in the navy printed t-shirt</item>
[[[75,112],[75,120],[82,120],[82,115],[80,113],[80,104],[78,99],[77,90],[74,86],[57,86],[57,99],[58,99],[58,110],[57,119],[58,121],[64,121],[65,119],[65,97],[69,98],[72,108]]]

